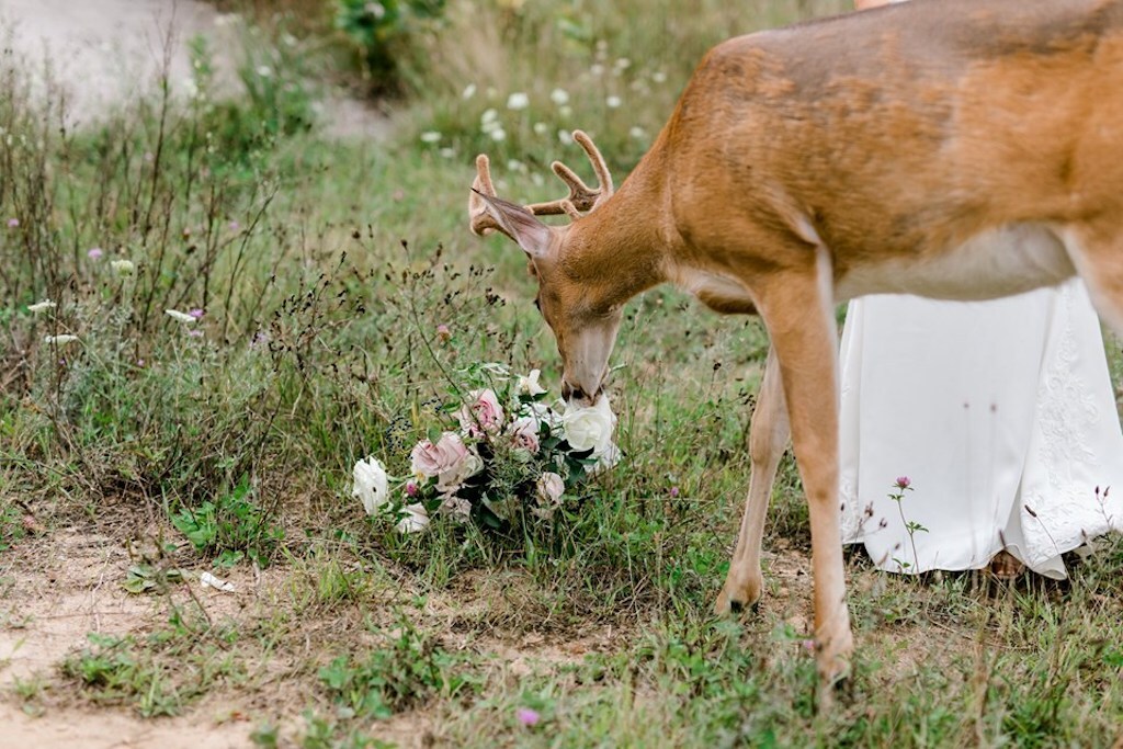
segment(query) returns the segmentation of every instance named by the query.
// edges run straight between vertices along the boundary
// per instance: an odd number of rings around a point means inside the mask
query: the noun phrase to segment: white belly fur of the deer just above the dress
[[[943,253],[896,256],[851,268],[837,301],[865,294],[982,300],[1049,286],[1076,273],[1065,243],[1044,223],[1014,223],[975,235]]]

